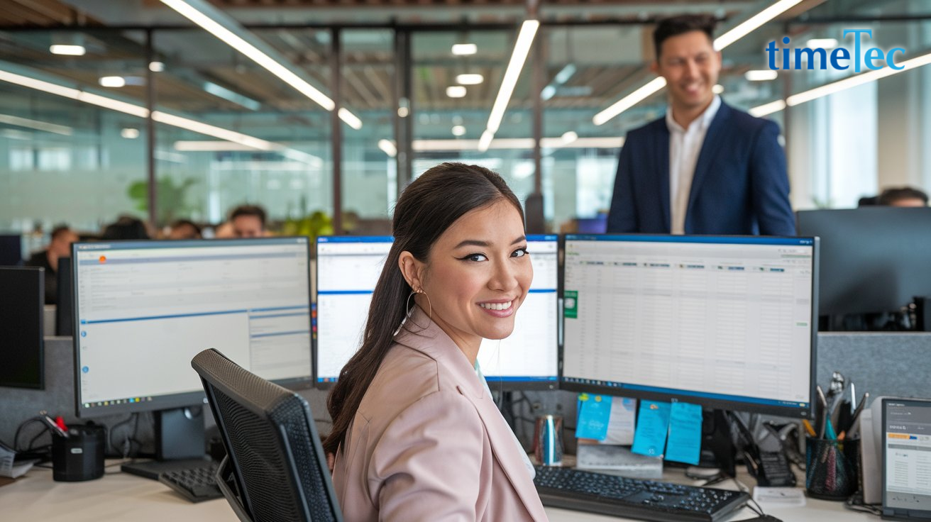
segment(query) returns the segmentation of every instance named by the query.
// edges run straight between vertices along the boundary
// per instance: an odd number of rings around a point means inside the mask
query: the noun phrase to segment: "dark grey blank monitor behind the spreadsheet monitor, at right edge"
[[[931,208],[804,210],[798,221],[821,238],[819,315],[897,312],[931,296]]]

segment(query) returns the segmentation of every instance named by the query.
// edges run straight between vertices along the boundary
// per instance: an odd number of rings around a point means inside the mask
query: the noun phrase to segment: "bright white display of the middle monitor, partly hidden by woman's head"
[[[391,237],[317,239],[317,381],[336,381],[358,350]],[[530,235],[533,283],[514,332],[482,341],[479,365],[488,380],[557,381],[557,236]]]

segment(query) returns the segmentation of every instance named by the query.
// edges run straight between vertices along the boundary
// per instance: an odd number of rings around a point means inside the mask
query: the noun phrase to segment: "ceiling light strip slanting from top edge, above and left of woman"
[[[297,89],[307,98],[316,101],[317,104],[324,109],[332,111],[336,108],[333,100],[317,90],[317,87],[310,85],[304,81],[304,78],[295,74],[281,62],[268,56],[263,51],[259,50],[258,47],[253,46],[241,36],[238,36],[236,33],[233,33],[229,29],[223,27],[223,25],[221,25],[217,20],[213,20],[208,15],[198,10],[196,7],[191,6],[191,4],[188,2],[185,2],[184,0],[162,0],[162,3],[178,11],[184,18],[193,21],[208,33],[213,34],[217,38],[220,38],[226,45],[233,47],[237,51],[246,55],[250,58],[250,60],[264,67],[265,70],[269,73],[275,74],[278,78],[283,80],[291,87]],[[227,21],[227,23],[231,25],[236,24],[236,22],[232,20]],[[345,108],[340,109],[339,116],[341,120],[349,125],[349,127],[356,129],[362,127],[361,120],[359,120],[355,114],[350,113]]]

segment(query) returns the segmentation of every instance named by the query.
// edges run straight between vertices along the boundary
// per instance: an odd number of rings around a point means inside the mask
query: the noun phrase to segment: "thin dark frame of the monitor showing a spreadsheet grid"
[[[811,306],[811,318],[810,320],[810,333],[811,333],[811,354],[810,354],[810,368],[809,368],[809,377],[808,377],[808,388],[809,388],[809,402],[808,408],[793,408],[788,406],[779,406],[772,404],[759,404],[752,402],[743,402],[730,399],[717,399],[707,396],[696,396],[696,395],[685,395],[675,392],[655,392],[650,390],[640,390],[634,388],[625,388],[617,386],[609,386],[602,384],[593,384],[593,383],[584,383],[584,382],[574,382],[566,381],[566,376],[563,373],[563,361],[565,353],[566,340],[562,340],[562,350],[560,351],[560,390],[566,390],[570,392],[578,393],[588,393],[588,394],[600,394],[600,395],[616,395],[616,396],[625,396],[637,399],[653,400],[653,401],[662,401],[662,402],[685,402],[690,404],[698,404],[704,408],[716,408],[716,409],[725,409],[733,411],[746,411],[749,413],[763,413],[768,415],[777,415],[780,417],[793,417],[793,418],[802,418],[802,419],[811,419],[813,417],[813,406],[814,406],[814,397],[816,396],[816,373],[817,373],[817,291],[818,291],[818,248],[820,240],[817,237],[813,236],[785,236],[785,235],[703,235],[703,234],[690,234],[690,235],[677,235],[672,236],[671,234],[565,234],[563,236],[563,241],[587,241],[587,240],[596,240],[595,237],[618,237],[618,238],[630,238],[631,241],[643,240],[646,237],[654,238],[669,238],[669,237],[693,237],[693,238],[705,238],[708,240],[713,239],[747,239],[749,243],[753,241],[762,241],[769,239],[790,239],[790,240],[810,240],[812,247],[812,306]],[[603,239],[601,239],[603,240]],[[710,241],[709,241],[710,242]],[[565,243],[563,243],[563,248]],[[563,263],[563,271],[565,270],[565,263]],[[562,274],[560,282],[564,282],[565,274]],[[564,291],[565,288],[562,288],[561,291]],[[561,295],[561,294],[560,294]],[[564,297],[563,297],[564,299]],[[561,321],[565,321],[565,317],[560,317]],[[687,391],[687,390],[683,390]]]

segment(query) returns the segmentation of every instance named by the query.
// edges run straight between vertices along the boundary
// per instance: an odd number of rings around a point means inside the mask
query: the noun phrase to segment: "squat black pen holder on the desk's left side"
[[[52,435],[52,479],[80,482],[103,476],[106,430],[96,424],[73,424],[68,436]]]

